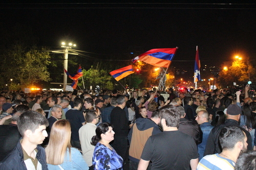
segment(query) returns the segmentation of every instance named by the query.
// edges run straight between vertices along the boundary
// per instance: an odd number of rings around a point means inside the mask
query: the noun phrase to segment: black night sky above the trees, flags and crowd
[[[31,27],[39,45],[55,48],[68,37],[77,50],[104,60],[130,60],[152,48],[178,46],[172,64],[194,68],[197,45],[201,65],[256,55],[255,4],[14,3],[1,4],[0,15],[6,25]],[[127,58],[129,53],[134,55]]]

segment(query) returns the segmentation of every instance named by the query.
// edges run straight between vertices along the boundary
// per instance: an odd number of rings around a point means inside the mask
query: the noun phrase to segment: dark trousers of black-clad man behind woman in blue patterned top
[[[116,153],[123,158],[123,162],[126,158],[128,140],[127,137],[115,137],[112,147],[115,149]]]

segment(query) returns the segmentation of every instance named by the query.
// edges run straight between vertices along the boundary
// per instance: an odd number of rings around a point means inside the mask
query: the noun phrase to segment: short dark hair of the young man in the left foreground
[[[17,120],[18,131],[22,137],[26,130],[31,130],[34,133],[41,125],[49,126],[48,120],[44,115],[33,110],[24,112]]]

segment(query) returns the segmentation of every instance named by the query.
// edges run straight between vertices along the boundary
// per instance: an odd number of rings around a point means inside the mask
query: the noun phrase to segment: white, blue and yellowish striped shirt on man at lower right
[[[197,170],[233,170],[236,163],[219,154],[207,155],[198,163]]]

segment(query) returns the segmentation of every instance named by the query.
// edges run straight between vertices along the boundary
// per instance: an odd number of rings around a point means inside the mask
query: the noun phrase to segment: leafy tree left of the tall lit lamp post
[[[1,76],[5,80],[12,78],[13,84],[20,84],[24,88],[39,81],[50,80],[47,70],[49,54],[40,52],[37,47],[29,48],[16,43],[4,51],[2,58]]]

